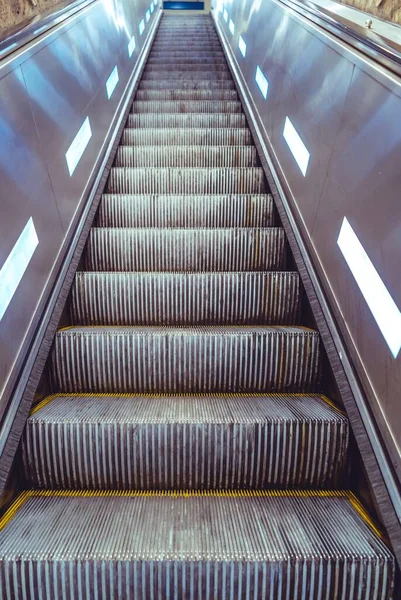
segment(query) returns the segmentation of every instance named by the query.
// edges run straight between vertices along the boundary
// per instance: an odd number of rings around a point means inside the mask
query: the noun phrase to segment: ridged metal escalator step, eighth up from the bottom
[[[120,146],[116,167],[256,167],[254,146]]]

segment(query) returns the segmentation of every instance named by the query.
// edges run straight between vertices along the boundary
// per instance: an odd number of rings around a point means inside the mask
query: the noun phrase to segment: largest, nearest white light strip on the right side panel
[[[401,348],[401,312],[346,217],[337,244],[394,358]]]

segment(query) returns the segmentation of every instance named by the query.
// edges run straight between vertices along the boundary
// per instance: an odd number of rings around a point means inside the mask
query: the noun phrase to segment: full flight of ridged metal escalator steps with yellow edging
[[[212,20],[164,16],[22,440],[4,598],[389,599]]]

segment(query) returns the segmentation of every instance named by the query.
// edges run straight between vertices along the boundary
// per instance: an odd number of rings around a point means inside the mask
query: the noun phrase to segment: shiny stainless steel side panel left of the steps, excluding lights
[[[0,272],[30,218],[39,240],[0,320],[0,418],[35,311],[54,281],[107,132],[152,34],[159,10],[147,22],[149,5],[99,0],[0,62]],[[115,67],[118,82],[108,99],[106,82]],[[91,137],[70,175],[66,152],[86,118]],[[0,285],[0,302],[5,296]]]

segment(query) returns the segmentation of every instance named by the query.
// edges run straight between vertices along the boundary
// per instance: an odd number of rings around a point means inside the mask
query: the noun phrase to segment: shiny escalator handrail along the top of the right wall
[[[313,0],[277,1],[323,27],[397,75],[401,75],[401,26],[372,17],[357,9],[344,7],[343,4],[340,6],[348,10],[342,15],[323,6],[323,2],[319,4]],[[330,2],[330,4],[333,8],[338,5],[337,2]],[[361,19],[371,20],[373,27],[369,28],[358,22],[359,20],[352,19],[352,14],[360,15]]]

